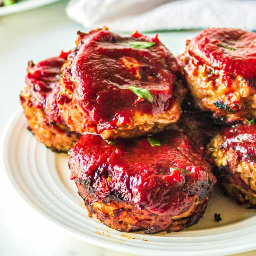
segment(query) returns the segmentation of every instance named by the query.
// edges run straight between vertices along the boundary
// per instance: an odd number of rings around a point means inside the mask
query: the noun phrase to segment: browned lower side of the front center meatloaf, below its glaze
[[[75,182],[79,195],[87,206],[89,216],[94,214],[105,225],[123,232],[139,230],[144,230],[145,234],[160,231],[178,232],[195,225],[203,216],[207,206],[208,198],[199,201],[195,197],[186,212],[177,216],[159,215],[115,196],[106,195],[104,199],[99,200],[96,196],[97,192],[83,180],[75,180]]]

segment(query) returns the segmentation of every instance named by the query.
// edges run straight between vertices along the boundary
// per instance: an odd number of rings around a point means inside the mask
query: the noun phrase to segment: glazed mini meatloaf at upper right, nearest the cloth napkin
[[[256,33],[206,29],[178,57],[195,105],[227,123],[256,117]]]

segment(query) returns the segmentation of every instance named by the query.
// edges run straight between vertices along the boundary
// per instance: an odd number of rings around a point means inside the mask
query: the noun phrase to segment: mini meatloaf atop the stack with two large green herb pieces
[[[182,73],[158,36],[122,37],[104,28],[78,32],[76,45],[63,66],[58,98],[72,131],[130,138],[179,119]]]

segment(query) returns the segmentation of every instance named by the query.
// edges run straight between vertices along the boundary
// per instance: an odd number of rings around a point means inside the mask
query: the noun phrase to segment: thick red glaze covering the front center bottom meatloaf
[[[202,152],[181,132],[147,138],[115,140],[83,135],[69,151],[71,179],[83,179],[103,195],[112,194],[152,212],[177,215],[208,196],[215,177]]]

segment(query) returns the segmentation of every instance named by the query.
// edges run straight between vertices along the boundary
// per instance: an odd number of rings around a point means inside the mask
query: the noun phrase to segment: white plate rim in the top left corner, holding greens
[[[23,0],[16,4],[0,7],[0,16],[12,14],[16,12],[26,11],[39,6],[57,2],[59,0]]]

